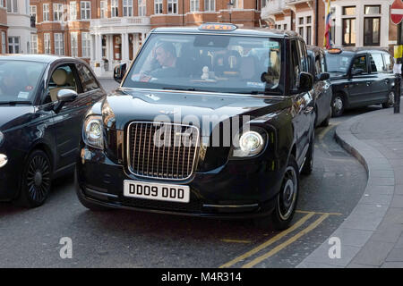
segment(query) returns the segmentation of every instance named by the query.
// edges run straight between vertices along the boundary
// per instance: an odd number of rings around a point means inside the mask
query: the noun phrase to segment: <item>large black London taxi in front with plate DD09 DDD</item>
[[[313,169],[306,53],[294,32],[214,23],[151,30],[125,75],[116,67],[120,88],[84,120],[82,205],[287,228],[299,174]]]

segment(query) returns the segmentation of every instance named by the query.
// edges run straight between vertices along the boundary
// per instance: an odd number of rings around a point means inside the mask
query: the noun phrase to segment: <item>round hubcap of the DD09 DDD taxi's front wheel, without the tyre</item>
[[[287,167],[283,180],[283,187],[278,199],[279,216],[282,220],[287,220],[293,213],[294,206],[296,205],[297,187],[296,170],[289,166]]]

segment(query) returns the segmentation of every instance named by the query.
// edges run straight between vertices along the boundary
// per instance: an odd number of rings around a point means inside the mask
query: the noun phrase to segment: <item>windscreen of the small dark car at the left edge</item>
[[[31,101],[45,63],[0,61],[0,102]]]

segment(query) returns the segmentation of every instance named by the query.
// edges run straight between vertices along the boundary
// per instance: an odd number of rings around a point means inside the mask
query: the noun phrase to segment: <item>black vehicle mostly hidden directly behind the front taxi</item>
[[[327,72],[326,54],[318,46],[308,46],[309,71],[313,74],[315,98],[315,127],[329,125],[331,117],[330,74]]]

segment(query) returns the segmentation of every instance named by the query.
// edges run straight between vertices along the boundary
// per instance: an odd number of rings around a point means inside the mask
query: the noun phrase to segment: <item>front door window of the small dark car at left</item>
[[[47,84],[47,97],[45,104],[48,102],[57,101],[57,93],[60,89],[71,89],[77,92],[77,82],[73,73],[73,65],[64,64],[58,66],[50,76],[49,83]]]

